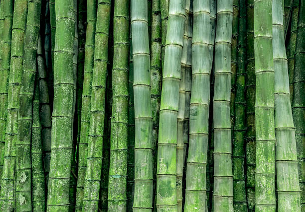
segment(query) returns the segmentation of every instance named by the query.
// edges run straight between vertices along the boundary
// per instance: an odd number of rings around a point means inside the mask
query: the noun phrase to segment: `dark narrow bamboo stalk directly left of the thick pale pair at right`
[[[246,187],[248,211],[255,210],[255,65],[254,65],[254,5],[247,0],[247,63],[246,63]]]

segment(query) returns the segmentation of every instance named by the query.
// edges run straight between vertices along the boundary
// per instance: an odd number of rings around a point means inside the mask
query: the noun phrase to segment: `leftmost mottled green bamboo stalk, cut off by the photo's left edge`
[[[11,23],[6,25],[4,29],[4,0],[0,2],[0,71],[2,77],[0,78],[0,176],[2,177],[3,162],[4,162],[4,145],[5,145],[5,129],[6,129],[6,118],[7,118],[7,84],[9,77],[9,61],[10,60],[10,41],[8,42],[7,33],[9,32],[9,40],[11,39]],[[6,34],[4,34],[6,32]],[[9,48],[9,49],[7,49]],[[9,53],[7,52],[9,50]],[[8,67],[5,67],[5,64]],[[0,180],[1,189],[1,180]]]

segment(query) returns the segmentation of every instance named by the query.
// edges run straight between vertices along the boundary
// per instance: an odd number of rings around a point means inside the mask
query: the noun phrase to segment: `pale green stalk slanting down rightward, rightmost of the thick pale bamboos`
[[[282,0],[272,2],[278,210],[301,212],[295,126],[289,93]]]

